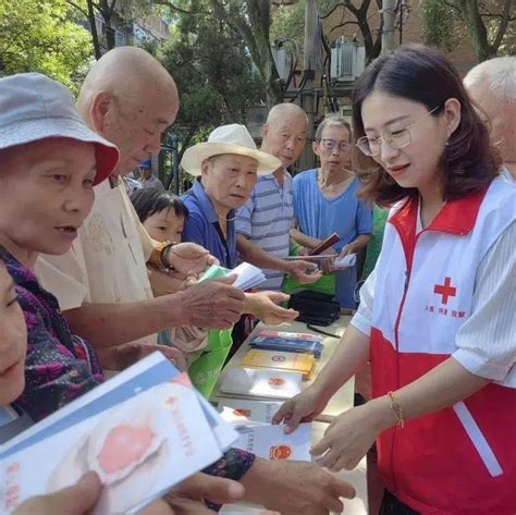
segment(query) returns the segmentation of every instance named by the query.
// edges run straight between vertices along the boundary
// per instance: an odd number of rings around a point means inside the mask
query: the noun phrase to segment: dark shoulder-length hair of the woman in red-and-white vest
[[[477,114],[457,71],[442,53],[422,45],[406,45],[376,59],[366,69],[352,96],[355,142],[365,136],[361,106],[373,91],[423,103],[429,112],[438,107],[433,117],[443,112],[449,98],[460,102],[460,123],[441,156],[444,199],[479,191],[497,175],[501,160],[490,144],[488,127]],[[389,207],[417,194],[416,188],[397,185],[356,147],[355,158],[361,180],[358,195],[363,199]]]

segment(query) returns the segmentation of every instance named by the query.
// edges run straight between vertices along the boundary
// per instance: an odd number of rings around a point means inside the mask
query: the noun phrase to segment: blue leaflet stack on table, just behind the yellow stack
[[[319,334],[271,331],[268,329],[256,332],[249,342],[249,346],[263,351],[314,354],[316,358],[321,357],[323,348],[322,336]]]

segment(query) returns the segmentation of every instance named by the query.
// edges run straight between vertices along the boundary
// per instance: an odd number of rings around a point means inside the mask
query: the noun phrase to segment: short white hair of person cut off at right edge
[[[516,100],[516,58],[494,58],[477,64],[464,77],[464,85],[474,97],[480,88],[500,101]]]

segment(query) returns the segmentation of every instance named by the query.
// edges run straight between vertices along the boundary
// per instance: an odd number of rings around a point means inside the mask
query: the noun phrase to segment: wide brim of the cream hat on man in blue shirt
[[[261,150],[254,150],[241,145],[231,145],[228,143],[208,142],[198,143],[186,149],[181,160],[181,165],[191,175],[197,176],[200,175],[200,169],[205,159],[223,154],[236,154],[238,156],[247,156],[256,159],[258,162],[258,175],[269,175],[282,165],[282,162],[278,158]]]

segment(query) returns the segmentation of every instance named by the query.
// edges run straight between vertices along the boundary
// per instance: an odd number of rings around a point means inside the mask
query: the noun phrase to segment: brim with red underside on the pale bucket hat
[[[64,137],[95,145],[97,174],[94,184],[99,184],[111,175],[119,162],[119,149],[112,143],[72,118],[32,119],[3,125],[0,127],[0,149],[51,137]]]

